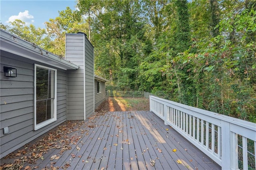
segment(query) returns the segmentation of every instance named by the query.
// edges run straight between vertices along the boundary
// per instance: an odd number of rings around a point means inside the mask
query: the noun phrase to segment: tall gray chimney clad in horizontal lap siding
[[[67,71],[67,120],[85,120],[94,113],[94,47],[78,32],[66,34],[65,50],[65,59],[79,66]]]

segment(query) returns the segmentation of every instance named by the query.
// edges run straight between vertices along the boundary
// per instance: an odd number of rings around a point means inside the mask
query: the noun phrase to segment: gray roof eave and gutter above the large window
[[[2,29],[0,29],[0,40],[0,49],[3,51],[14,53],[64,70],[79,68],[78,65]]]

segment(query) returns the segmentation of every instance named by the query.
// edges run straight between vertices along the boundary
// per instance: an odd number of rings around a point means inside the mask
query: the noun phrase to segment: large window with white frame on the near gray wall
[[[35,64],[34,129],[57,120],[57,70]]]

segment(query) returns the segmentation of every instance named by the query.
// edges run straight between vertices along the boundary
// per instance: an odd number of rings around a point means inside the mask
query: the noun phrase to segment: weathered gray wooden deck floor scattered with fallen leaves
[[[57,137],[52,139],[51,136]],[[35,149],[44,143],[47,149]],[[33,153],[39,156],[31,161]],[[15,162],[22,156],[27,156],[28,160],[22,164],[23,168],[44,170],[221,169],[149,111],[95,113],[86,121],[67,121],[20,151],[2,158],[1,165]],[[154,166],[150,165],[150,160],[155,161]]]

